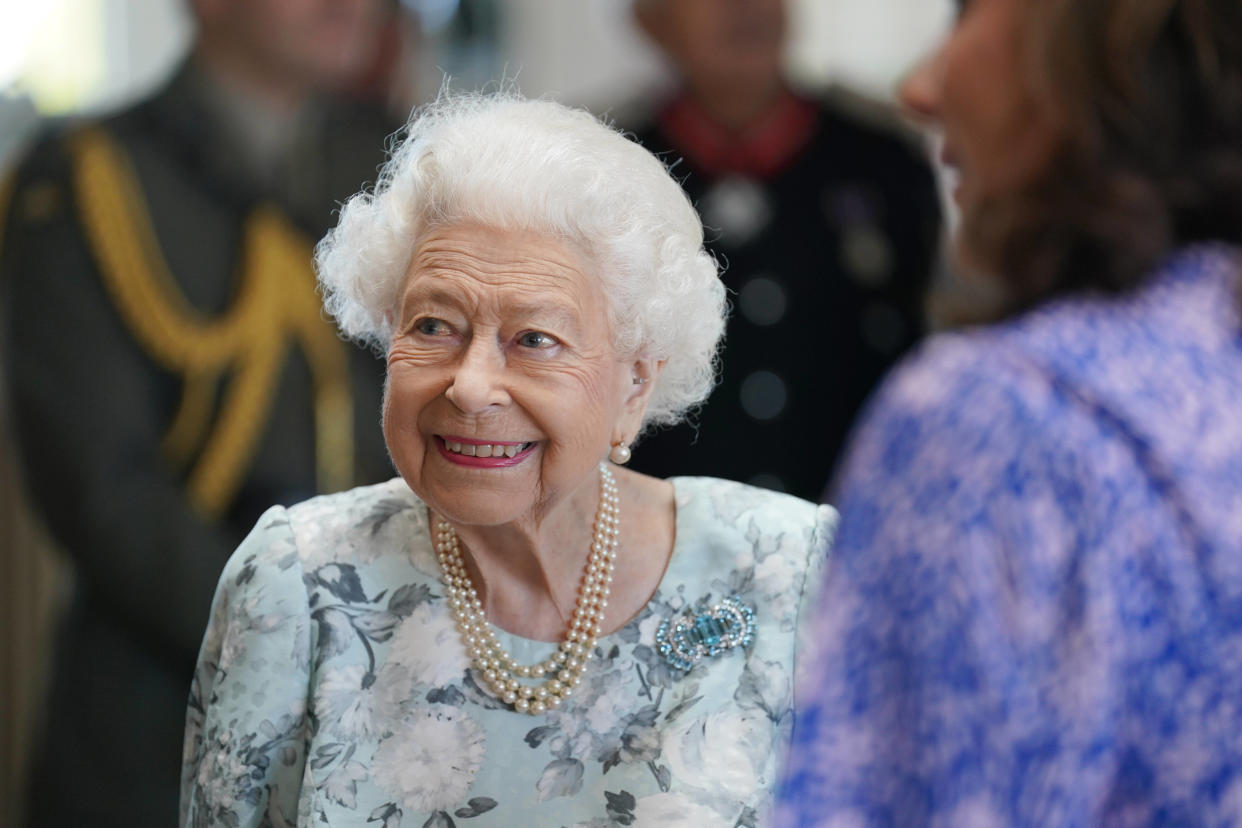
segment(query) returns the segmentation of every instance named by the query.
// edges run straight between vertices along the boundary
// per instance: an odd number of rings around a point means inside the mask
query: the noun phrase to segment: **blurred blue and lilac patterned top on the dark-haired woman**
[[[1242,823],[1238,259],[936,336],[840,478],[779,826]]]

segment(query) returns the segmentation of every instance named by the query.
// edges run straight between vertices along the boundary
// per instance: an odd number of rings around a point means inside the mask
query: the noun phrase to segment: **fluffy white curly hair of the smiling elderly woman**
[[[345,202],[319,242],[328,313],[383,353],[420,240],[466,222],[545,233],[586,253],[617,354],[664,360],[645,428],[676,423],[707,398],[724,286],[698,214],[651,153],[550,101],[441,93],[414,113],[374,190]]]

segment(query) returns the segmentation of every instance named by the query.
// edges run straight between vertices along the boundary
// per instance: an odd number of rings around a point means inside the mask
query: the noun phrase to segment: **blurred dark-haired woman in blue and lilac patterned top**
[[[903,94],[1007,310],[852,441],[777,824],[1238,824],[1242,4],[959,5]]]

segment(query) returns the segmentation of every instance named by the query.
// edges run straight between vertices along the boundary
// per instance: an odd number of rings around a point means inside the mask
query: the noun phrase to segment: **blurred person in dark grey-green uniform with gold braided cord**
[[[31,498],[73,565],[29,822],[176,819],[185,698],[220,571],[258,514],[386,479],[383,365],[320,315],[313,240],[374,180],[355,87],[380,0],[193,0],[148,101],[42,139],[0,251]],[[395,122],[394,122],[395,123]]]

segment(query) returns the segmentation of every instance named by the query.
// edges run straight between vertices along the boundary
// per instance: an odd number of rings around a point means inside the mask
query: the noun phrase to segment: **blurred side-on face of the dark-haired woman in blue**
[[[944,130],[943,161],[958,174],[966,220],[1040,178],[1057,146],[1052,108],[1025,66],[1027,1],[959,0],[940,50],[903,83],[903,103]]]

